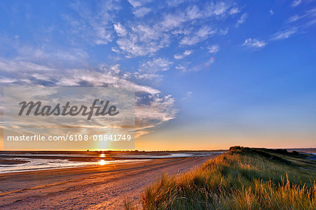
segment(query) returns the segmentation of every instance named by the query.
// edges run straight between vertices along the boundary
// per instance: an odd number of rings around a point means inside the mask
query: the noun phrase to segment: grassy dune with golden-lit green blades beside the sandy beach
[[[316,162],[287,150],[231,147],[199,169],[162,176],[143,209],[316,209]],[[126,209],[134,209],[126,201]]]

